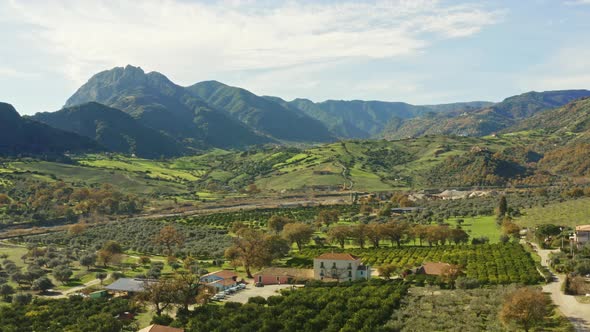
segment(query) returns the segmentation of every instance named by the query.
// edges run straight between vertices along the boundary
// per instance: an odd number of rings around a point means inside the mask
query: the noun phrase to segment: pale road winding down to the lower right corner
[[[535,244],[533,244],[533,246],[541,257],[541,264],[543,266],[549,265],[549,254],[551,252],[559,251],[539,249]],[[555,275],[555,280],[556,281],[543,286],[543,291],[551,295],[553,303],[559,306],[559,310],[561,310],[570,322],[572,322],[576,331],[590,331],[590,304],[580,303],[575,297],[565,295],[561,291],[561,284],[565,281],[565,275]]]

